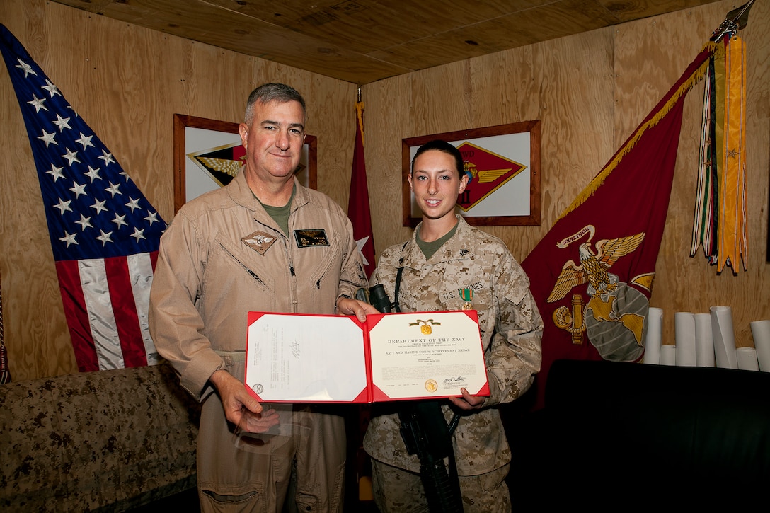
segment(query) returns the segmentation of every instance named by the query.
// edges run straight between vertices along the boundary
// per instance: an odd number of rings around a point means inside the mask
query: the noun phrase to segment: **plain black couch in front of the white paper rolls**
[[[509,438],[518,507],[764,503],[770,374],[559,360]]]

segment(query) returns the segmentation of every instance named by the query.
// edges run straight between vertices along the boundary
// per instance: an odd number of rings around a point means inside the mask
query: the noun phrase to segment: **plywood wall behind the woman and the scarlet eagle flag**
[[[542,120],[543,223],[492,227],[524,257],[598,173],[737,5],[716,2],[512,49],[365,86],[367,170],[377,251],[409,236],[400,222],[400,139],[526,119]],[[674,344],[677,311],[732,308],[736,344],[752,345],[749,322],[770,319],[768,230],[770,5],[757,2],[748,28],[748,271],[718,275],[689,257],[702,86],[685,121],[651,306],[664,310],[664,342]],[[611,213],[608,213],[611,215]]]

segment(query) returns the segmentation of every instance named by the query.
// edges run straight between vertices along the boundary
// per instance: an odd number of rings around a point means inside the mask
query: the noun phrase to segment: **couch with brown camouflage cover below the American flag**
[[[0,511],[196,511],[199,414],[168,364],[0,385]]]

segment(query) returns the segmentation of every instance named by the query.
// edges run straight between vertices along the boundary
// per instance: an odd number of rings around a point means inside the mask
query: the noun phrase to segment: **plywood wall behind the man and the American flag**
[[[308,106],[319,189],[347,204],[356,86],[42,0],[0,0],[22,42],[161,216],[173,212],[173,114],[240,122],[263,82],[286,82]],[[0,72],[0,270],[14,381],[77,371],[29,142]]]

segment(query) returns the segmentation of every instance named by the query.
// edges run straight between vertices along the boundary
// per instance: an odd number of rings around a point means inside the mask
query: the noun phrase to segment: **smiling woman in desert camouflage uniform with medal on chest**
[[[450,398],[443,410],[447,421],[461,414],[453,446],[464,511],[511,511],[504,481],[511,450],[496,405],[513,401],[532,384],[540,369],[543,322],[529,280],[505,244],[454,214],[468,181],[460,152],[444,141],[428,142],[417,150],[408,179],[422,223],[411,240],[383,252],[370,284],[382,283],[394,300],[397,269],[403,267],[397,298],[402,311],[477,310],[490,397],[463,389],[463,397]],[[393,408],[385,404],[373,411],[364,439],[373,458],[375,501],[382,513],[427,511],[420,463],[407,454]]]

